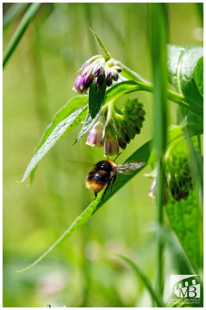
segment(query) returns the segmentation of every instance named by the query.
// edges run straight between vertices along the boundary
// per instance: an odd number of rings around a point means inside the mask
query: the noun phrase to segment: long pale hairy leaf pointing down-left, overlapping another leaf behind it
[[[36,154],[32,157],[31,162],[28,164],[26,171],[24,172],[23,182],[30,174],[30,172],[35,168],[35,166],[40,162],[40,160],[45,156],[46,153],[57,143],[62,137],[64,137],[69,131],[81,123],[86,117],[87,105],[84,108],[80,108],[77,111],[70,114],[63,121],[58,123],[58,125],[53,129],[51,134],[48,136],[44,144],[38,149]],[[19,182],[19,183],[21,183]]]

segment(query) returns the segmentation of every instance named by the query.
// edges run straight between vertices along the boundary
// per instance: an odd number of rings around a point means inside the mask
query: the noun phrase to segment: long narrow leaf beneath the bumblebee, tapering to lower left
[[[145,162],[148,162],[150,156],[150,148],[151,141],[145,143],[141,148],[139,148],[135,153],[132,154],[128,158],[129,160],[144,158]],[[145,165],[146,166],[146,165]],[[51,253],[57,246],[60,246],[62,242],[64,242],[69,236],[71,236],[79,227],[81,227],[90,217],[94,214],[96,210],[98,210],[111,196],[113,196],[122,186],[124,186],[131,178],[133,178],[137,173],[140,172],[141,169],[137,169],[132,175],[118,175],[117,179],[113,185],[112,193],[107,191],[104,201],[102,201],[102,196],[104,193],[104,189],[98,195],[98,197],[92,201],[89,206],[82,212],[80,216],[74,221],[74,223],[63,233],[63,235],[51,246],[40,258],[38,258],[34,263],[32,263],[27,268],[17,271],[24,272],[37,263],[39,263],[44,257],[46,257],[49,253]]]

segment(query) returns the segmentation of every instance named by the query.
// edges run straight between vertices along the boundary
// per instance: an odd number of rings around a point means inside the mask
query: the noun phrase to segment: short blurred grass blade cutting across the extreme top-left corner
[[[23,3],[14,3],[11,7],[6,11],[3,15],[3,30],[11,24],[13,20],[15,20],[19,15],[23,12],[23,10],[28,7],[30,3],[23,2]]]

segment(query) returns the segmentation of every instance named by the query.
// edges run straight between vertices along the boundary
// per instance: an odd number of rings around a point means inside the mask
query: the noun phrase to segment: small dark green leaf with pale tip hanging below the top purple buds
[[[90,129],[98,121],[104,101],[106,87],[106,84],[103,83],[102,86],[97,88],[95,86],[95,80],[93,80],[93,82],[91,83],[89,90],[89,108],[87,111],[86,119],[74,144],[77,143],[77,141],[81,139],[84,135],[86,135],[87,132],[89,132]]]

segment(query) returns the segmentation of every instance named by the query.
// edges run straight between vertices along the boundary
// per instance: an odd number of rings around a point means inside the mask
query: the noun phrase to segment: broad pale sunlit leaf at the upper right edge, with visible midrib
[[[194,70],[203,56],[203,47],[168,45],[169,82],[188,102],[203,106],[203,98],[194,80]]]

